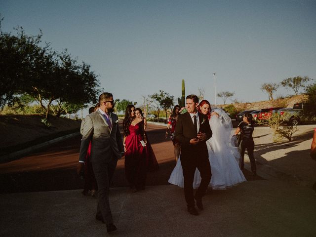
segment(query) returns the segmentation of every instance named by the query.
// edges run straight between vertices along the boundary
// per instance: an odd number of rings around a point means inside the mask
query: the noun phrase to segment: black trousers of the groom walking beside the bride
[[[194,154],[192,157],[181,157],[181,165],[184,177],[184,196],[188,207],[195,206],[194,194],[193,194],[193,180],[196,168],[201,175],[201,183],[196,192],[196,198],[204,196],[207,186],[211,180],[211,166],[208,156],[204,154]]]

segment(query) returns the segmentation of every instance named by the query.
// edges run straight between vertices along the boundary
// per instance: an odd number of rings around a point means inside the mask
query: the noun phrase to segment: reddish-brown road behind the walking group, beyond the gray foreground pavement
[[[165,127],[149,124],[148,137],[159,163],[159,171],[149,173],[146,185],[168,184],[169,175],[176,162],[173,145],[164,139]],[[27,157],[0,164],[0,192],[37,192],[74,190],[83,187],[76,174],[81,136],[60,142]],[[253,177],[245,171],[248,180]],[[256,178],[260,179],[260,177]],[[127,187],[124,175],[124,158],[118,161],[114,187]]]

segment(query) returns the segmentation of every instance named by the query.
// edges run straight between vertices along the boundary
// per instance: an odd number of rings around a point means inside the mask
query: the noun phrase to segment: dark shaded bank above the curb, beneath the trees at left
[[[0,115],[0,155],[21,150],[72,132],[79,132],[80,121],[69,118],[49,118],[46,128],[41,115]]]

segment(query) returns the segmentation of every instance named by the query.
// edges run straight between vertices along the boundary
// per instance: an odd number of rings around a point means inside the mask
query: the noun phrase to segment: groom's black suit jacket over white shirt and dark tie
[[[198,156],[208,157],[206,141],[211,138],[212,130],[209,126],[206,115],[198,113],[199,131],[206,134],[206,139],[197,145],[190,144],[190,140],[197,137],[192,118],[189,113],[179,115],[176,129],[175,139],[181,144],[181,159],[195,159]]]

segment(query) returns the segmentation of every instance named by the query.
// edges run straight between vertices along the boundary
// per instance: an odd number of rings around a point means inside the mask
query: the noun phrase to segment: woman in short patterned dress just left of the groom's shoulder
[[[166,131],[166,138],[168,136],[168,133],[170,134],[170,138],[174,146],[174,158],[176,159],[176,161],[178,161],[178,158],[180,156],[180,143],[174,138],[174,132],[175,132],[179,112],[180,112],[180,106],[176,105],[172,110],[172,114],[168,118],[167,131]]]

